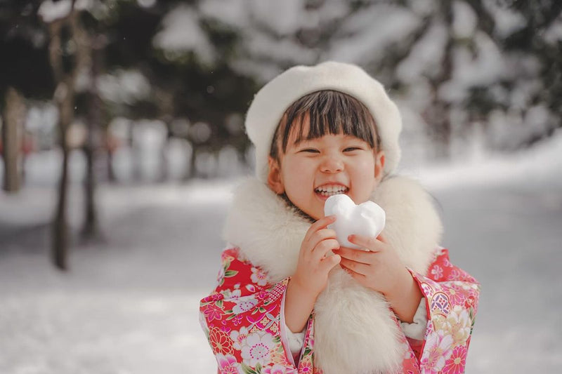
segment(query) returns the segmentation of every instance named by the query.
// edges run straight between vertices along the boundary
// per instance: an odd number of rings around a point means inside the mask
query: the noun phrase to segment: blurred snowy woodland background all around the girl
[[[562,365],[562,2],[0,0],[0,373],[214,373],[244,113],[353,62],[482,283],[466,373]]]

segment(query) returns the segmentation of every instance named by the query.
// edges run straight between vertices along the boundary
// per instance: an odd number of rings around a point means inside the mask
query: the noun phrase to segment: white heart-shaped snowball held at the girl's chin
[[[347,238],[351,234],[376,238],[384,229],[386,213],[377,203],[365,201],[355,205],[346,194],[329,196],[324,203],[324,215],[336,215],[336,222],[328,225],[336,230],[339,244],[343,247],[360,249]]]

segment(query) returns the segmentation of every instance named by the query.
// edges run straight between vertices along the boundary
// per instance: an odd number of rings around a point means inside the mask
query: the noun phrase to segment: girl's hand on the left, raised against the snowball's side
[[[293,288],[314,300],[326,287],[329,271],[341,260],[339,255],[328,254],[339,248],[335,230],[327,228],[335,221],[336,216],[329,215],[311,225],[301,244],[299,262],[291,279]]]

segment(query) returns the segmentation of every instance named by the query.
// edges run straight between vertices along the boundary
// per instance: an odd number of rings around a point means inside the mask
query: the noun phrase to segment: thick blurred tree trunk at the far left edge
[[[20,189],[20,150],[24,117],[25,105],[22,95],[15,88],[8,88],[4,125],[2,126],[4,190],[6,192],[17,192]]]

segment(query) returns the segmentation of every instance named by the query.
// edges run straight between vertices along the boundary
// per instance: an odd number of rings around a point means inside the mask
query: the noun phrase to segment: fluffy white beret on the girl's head
[[[315,66],[296,66],[282,72],[256,93],[246,114],[246,133],[256,147],[256,175],[267,182],[268,156],[273,135],[285,110],[304,95],[321,90],[347,93],[362,102],[377,123],[384,150],[385,174],[400,161],[398,135],[402,119],[384,86],[356,65],[322,62]]]

